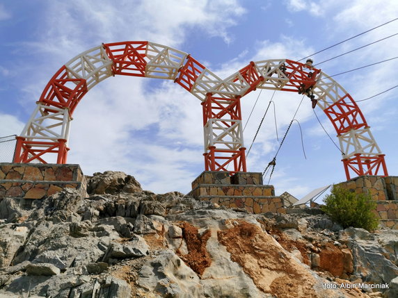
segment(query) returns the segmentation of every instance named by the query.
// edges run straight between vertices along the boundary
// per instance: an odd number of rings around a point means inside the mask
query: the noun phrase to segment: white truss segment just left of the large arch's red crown
[[[112,60],[106,55],[102,45],[79,53],[65,67],[70,78],[85,79],[88,90],[113,75]]]

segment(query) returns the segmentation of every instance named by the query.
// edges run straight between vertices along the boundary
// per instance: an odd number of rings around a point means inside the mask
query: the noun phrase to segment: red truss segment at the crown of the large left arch
[[[113,61],[113,74],[145,76],[148,42],[113,42],[104,44],[106,55]]]

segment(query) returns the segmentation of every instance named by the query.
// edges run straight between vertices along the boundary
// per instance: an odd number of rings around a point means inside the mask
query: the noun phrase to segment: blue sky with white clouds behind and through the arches
[[[116,4],[117,3],[117,4]],[[190,53],[218,76],[227,77],[250,60],[298,60],[398,17],[390,1],[0,1],[0,136],[19,134],[51,76],[77,54],[102,42],[149,40]],[[315,64],[398,33],[398,21],[313,56]],[[398,36],[321,65],[326,74],[397,56]],[[353,99],[397,85],[398,61],[336,76]],[[398,88],[358,103],[397,175]],[[259,91],[242,99],[246,123]],[[272,92],[263,91],[244,133],[249,147]],[[276,92],[281,137],[301,96]],[[321,122],[335,131],[317,108]],[[271,111],[272,112],[272,111]],[[276,194],[302,197],[345,180],[340,151],[319,126],[309,99],[293,124],[271,184]],[[90,90],[74,113],[69,163],[85,174],[121,170],[154,192],[188,192],[204,164],[200,101],[171,81],[116,76]],[[273,113],[268,113],[248,170],[262,172],[278,149]],[[268,181],[268,178],[266,178]]]

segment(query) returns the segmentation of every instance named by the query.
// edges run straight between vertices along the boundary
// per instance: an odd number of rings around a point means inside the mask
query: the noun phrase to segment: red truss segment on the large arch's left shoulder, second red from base
[[[50,79],[43,90],[39,101],[46,106],[69,108],[72,115],[79,101],[87,93],[86,80],[83,78],[69,78],[65,65]]]

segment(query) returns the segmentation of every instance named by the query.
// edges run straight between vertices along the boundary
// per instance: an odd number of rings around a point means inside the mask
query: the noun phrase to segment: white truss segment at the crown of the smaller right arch
[[[272,59],[255,62],[260,76],[264,77],[264,81],[257,85],[256,88],[280,90],[289,82],[289,78],[282,71],[286,59]]]

